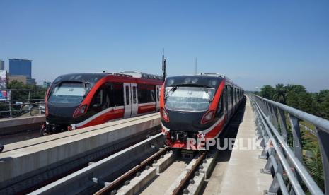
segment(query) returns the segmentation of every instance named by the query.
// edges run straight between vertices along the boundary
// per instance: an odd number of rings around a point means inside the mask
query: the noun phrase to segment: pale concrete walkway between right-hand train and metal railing
[[[244,147],[248,145],[248,139],[255,139],[254,121],[255,113],[247,98],[243,122],[236,136],[238,142],[243,141]],[[259,146],[259,143],[256,143],[256,146]],[[257,148],[232,151],[226,173],[221,181],[221,194],[264,194],[264,191],[270,187],[272,176],[260,172],[266,164],[266,160],[258,158],[261,152],[262,150]]]

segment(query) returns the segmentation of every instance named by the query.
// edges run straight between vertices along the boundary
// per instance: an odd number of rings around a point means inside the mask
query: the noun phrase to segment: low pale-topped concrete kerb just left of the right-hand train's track
[[[161,144],[162,137],[162,133],[156,134],[128,148],[123,148],[97,162],[91,161],[93,163],[90,165],[47,184],[30,194],[79,194],[79,192],[81,193],[88,188],[93,188],[95,187],[93,178],[98,177],[102,180],[109,175],[115,174],[119,169],[131,165],[134,160],[144,158],[149,153],[156,153],[156,149],[151,147],[151,145]]]

